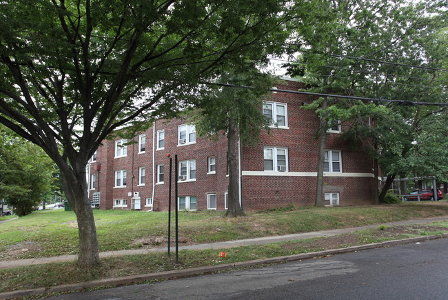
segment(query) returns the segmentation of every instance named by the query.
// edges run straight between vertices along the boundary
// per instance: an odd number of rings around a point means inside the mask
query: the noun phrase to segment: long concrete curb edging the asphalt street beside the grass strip
[[[12,292],[3,292],[0,293],[0,299],[14,299],[18,297],[26,297],[26,296],[36,296],[40,294],[47,294],[53,292],[67,292],[67,291],[75,291],[75,290],[83,290],[87,288],[98,288],[101,286],[125,286],[131,283],[139,283],[148,280],[154,279],[175,279],[181,277],[192,277],[201,274],[210,274],[213,272],[224,271],[224,270],[233,270],[238,268],[252,267],[263,265],[266,263],[283,263],[287,261],[298,261],[301,259],[311,259],[314,257],[323,257],[325,255],[334,255],[348,252],[356,252],[361,250],[368,250],[373,248],[382,248],[389,246],[397,246],[403,245],[405,243],[417,243],[420,241],[430,241],[433,239],[444,239],[448,238],[448,233],[445,234],[437,234],[430,235],[427,237],[414,237],[411,239],[398,239],[394,241],[384,241],[381,243],[370,243],[362,246],[353,246],[347,248],[340,249],[332,249],[325,250],[320,252],[309,252],[309,253],[301,253],[288,255],[285,257],[272,257],[270,259],[256,259],[253,261],[242,261],[240,263],[224,263],[222,265],[216,266],[207,266],[207,267],[199,267],[199,268],[190,268],[185,270],[173,270],[166,272],[157,272],[157,273],[149,273],[149,274],[140,274],[140,275],[131,275],[119,278],[108,278],[108,279],[100,279],[93,280],[87,282],[80,283],[71,283],[64,284],[61,286],[54,286],[51,288],[36,288],[30,290],[14,290]]]

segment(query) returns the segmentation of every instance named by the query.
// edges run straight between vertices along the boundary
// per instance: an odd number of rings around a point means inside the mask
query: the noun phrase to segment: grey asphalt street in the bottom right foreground
[[[448,299],[448,239],[50,299]]]

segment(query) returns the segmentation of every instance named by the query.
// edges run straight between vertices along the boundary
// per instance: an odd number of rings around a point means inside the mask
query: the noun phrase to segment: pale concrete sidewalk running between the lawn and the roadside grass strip
[[[448,217],[437,217],[437,218],[429,218],[429,219],[416,219],[416,220],[407,220],[407,221],[396,221],[390,223],[383,223],[385,226],[399,226],[399,225],[412,225],[412,224],[425,224],[432,223],[435,221],[446,221]],[[249,246],[249,245],[262,245],[265,243],[276,243],[280,241],[293,241],[297,239],[309,239],[313,237],[332,237],[340,234],[347,234],[356,232],[358,230],[365,230],[368,228],[378,228],[381,224],[374,224],[369,226],[359,226],[356,228],[342,228],[342,229],[334,229],[334,230],[324,230],[318,232],[305,232],[298,234],[287,234],[281,236],[274,237],[259,237],[257,239],[240,239],[234,241],[221,241],[216,243],[201,243],[195,245],[187,245],[187,246],[179,246],[179,251],[181,250],[204,250],[204,249],[226,249],[233,248],[238,246]],[[174,241],[172,241],[174,245]],[[103,257],[119,257],[124,255],[134,255],[134,254],[146,254],[152,252],[165,252],[167,251],[167,247],[164,248],[148,248],[148,249],[133,249],[133,250],[119,250],[119,251],[107,251],[100,252],[100,258]],[[171,248],[171,252],[174,252],[174,247]],[[59,257],[43,257],[36,259],[18,259],[14,261],[0,261],[0,270],[8,269],[8,268],[17,268],[23,266],[31,266],[31,265],[40,265],[43,263],[55,263],[61,261],[74,261],[78,258],[76,254],[74,255],[61,255]]]

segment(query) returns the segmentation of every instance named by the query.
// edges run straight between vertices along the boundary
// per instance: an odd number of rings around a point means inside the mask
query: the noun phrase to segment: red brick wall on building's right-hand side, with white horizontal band
[[[279,90],[297,90],[301,83],[287,82]],[[287,103],[289,129],[272,128],[271,135],[264,132],[261,141],[253,147],[242,149],[242,170],[263,172],[265,146],[285,147],[288,150],[289,172],[317,172],[319,144],[318,117],[313,111],[304,110],[302,103],[311,99],[303,94],[277,92],[272,101]],[[354,150],[339,134],[327,133],[327,150],[340,150],[342,170],[347,173],[373,173],[369,155]],[[281,173],[276,173],[281,174]],[[284,173],[287,175],[287,173]],[[276,206],[312,206],[316,197],[316,177],[303,176],[243,176],[243,207],[260,210]],[[371,203],[374,194],[373,177],[324,177],[324,192],[339,192],[340,206]]]

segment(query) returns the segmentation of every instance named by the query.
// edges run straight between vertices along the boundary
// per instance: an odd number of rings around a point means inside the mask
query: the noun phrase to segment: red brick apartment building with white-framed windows
[[[278,90],[298,90],[292,79]],[[303,110],[311,99],[303,94],[276,92],[263,104],[263,113],[277,126],[263,132],[254,146],[238,143],[238,181],[244,210],[282,206],[312,206],[316,196],[318,117]],[[338,139],[344,125],[327,132],[323,191],[325,205],[373,203],[373,161],[366,152]],[[89,165],[92,205],[101,209],[168,210],[170,157],[174,209],[174,154],[178,157],[179,210],[227,208],[227,139],[197,137],[185,119],[157,120],[134,143],[104,141]]]

